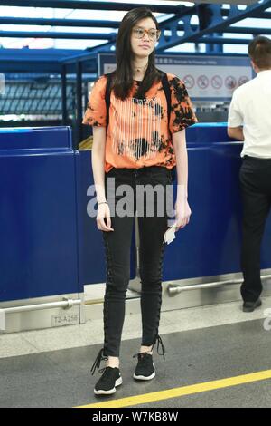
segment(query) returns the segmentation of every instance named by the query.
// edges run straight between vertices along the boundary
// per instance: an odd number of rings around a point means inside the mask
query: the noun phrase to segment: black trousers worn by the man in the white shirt
[[[255,302],[262,292],[260,250],[271,207],[271,160],[245,156],[239,176],[243,200],[241,295],[245,302]]]

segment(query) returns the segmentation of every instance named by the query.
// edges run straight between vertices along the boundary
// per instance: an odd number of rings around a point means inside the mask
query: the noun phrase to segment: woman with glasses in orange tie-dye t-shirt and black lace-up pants
[[[134,373],[137,380],[154,378],[153,348],[156,342],[162,344],[158,326],[168,215],[166,212],[161,215],[155,210],[159,204],[156,198],[151,201],[150,197],[144,198],[144,205],[139,205],[135,192],[141,185],[151,185],[152,188],[159,185],[164,189],[165,205],[165,189],[172,183],[171,170],[176,166],[176,229],[185,227],[191,215],[187,201],[184,129],[197,119],[184,84],[169,73],[166,77],[171,91],[171,111],[167,113],[163,73],[154,65],[154,47],[159,35],[158,23],[145,7],[135,8],[125,15],[117,34],[117,70],[112,76],[109,110],[106,102],[107,76],[104,75],[90,93],[83,120],[83,123],[93,126],[92,169],[98,200],[97,226],[103,233],[107,254],[105,342],[92,372],[102,360],[107,361],[107,366],[101,371],[103,374],[95,386],[97,395],[114,393],[122,383],[119,347],[130,278],[134,215],[112,214],[119,200],[117,188],[126,185],[133,189],[128,207],[134,214],[135,208],[144,212],[138,217],[143,334]],[[112,189],[107,193],[109,178],[115,179],[116,192]],[[152,215],[146,214],[150,203],[155,210]]]

